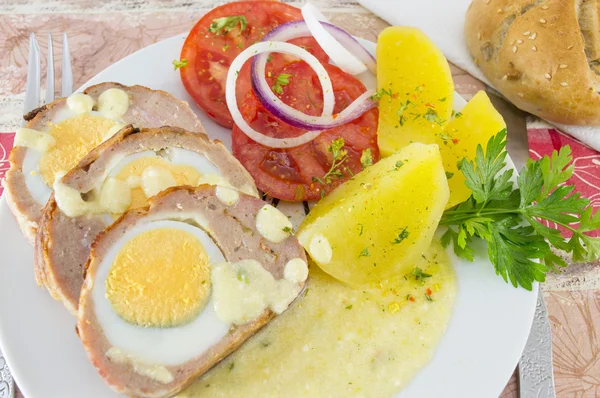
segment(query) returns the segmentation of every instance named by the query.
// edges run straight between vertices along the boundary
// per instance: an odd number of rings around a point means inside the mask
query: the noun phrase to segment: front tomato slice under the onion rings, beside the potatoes
[[[324,64],[335,94],[334,112],[339,113],[366,91],[355,77],[339,68]],[[280,74],[288,74],[280,98],[286,104],[309,115],[320,115],[323,94],[316,73],[303,61],[293,62],[274,71],[267,78],[275,84]],[[270,114],[250,91],[240,107],[244,119],[257,131],[277,138],[294,137],[303,130],[292,127]],[[358,119],[326,130],[312,142],[291,149],[273,149],[248,138],[237,126],[233,128],[233,154],[250,172],[256,186],[266,194],[288,201],[318,200],[339,184],[363,169],[361,155],[370,150],[373,162],[379,160],[377,146],[378,110],[372,109]],[[334,161],[328,148],[338,138],[344,140],[346,160],[329,174]]]

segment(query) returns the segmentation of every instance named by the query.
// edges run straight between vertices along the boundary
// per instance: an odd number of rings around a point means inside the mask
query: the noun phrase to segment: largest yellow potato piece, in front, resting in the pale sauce
[[[448,202],[437,145],[410,144],[322,199],[298,239],[325,272],[351,285],[410,273]]]

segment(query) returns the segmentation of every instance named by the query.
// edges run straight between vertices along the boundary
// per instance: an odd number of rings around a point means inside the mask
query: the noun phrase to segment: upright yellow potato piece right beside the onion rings
[[[392,26],[377,39],[382,156],[411,142],[436,143],[452,114],[454,83],[442,52],[419,29]]]

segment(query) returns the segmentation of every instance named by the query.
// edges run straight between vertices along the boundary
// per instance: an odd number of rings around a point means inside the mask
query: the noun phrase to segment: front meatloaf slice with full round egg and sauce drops
[[[171,188],[94,242],[77,330],[115,391],[179,392],[304,288],[306,257],[288,218],[219,190]]]

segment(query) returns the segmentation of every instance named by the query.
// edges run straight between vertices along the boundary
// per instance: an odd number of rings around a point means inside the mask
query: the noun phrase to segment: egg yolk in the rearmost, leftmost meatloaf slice
[[[59,171],[68,171],[79,163],[92,149],[106,138],[106,133],[115,122],[99,116],[82,114],[50,127],[48,133],[56,144],[42,155],[39,171],[49,187]]]

